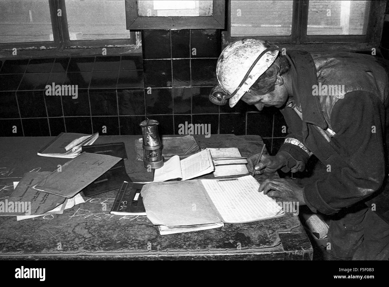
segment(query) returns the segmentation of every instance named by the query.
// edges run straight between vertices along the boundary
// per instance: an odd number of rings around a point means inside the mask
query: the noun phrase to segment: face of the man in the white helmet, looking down
[[[254,91],[251,93],[245,93],[241,100],[247,103],[247,105],[254,105],[258,110],[262,110],[263,107],[282,107],[288,98],[288,93],[284,85],[275,85],[274,91],[267,94],[256,94]]]

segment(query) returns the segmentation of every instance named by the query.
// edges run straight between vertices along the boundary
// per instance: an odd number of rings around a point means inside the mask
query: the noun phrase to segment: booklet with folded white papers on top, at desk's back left
[[[81,153],[82,146],[93,144],[98,133],[85,135],[82,133],[60,133],[54,140],[43,147],[38,156],[54,158],[75,158]]]

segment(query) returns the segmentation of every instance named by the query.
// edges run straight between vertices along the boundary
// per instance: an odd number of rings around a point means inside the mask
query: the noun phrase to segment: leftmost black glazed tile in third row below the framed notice
[[[151,94],[145,90],[146,114],[172,114],[173,97],[172,89],[151,89]]]

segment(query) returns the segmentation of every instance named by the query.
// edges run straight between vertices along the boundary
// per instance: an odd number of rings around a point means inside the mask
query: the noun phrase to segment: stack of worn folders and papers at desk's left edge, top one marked
[[[121,158],[84,152],[54,172],[27,172],[11,196],[0,200],[0,215],[18,220],[63,210],[84,202],[78,193]]]

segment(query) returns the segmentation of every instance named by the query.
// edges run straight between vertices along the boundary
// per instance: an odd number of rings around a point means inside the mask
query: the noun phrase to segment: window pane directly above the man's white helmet
[[[289,36],[293,1],[231,1],[231,37]]]

